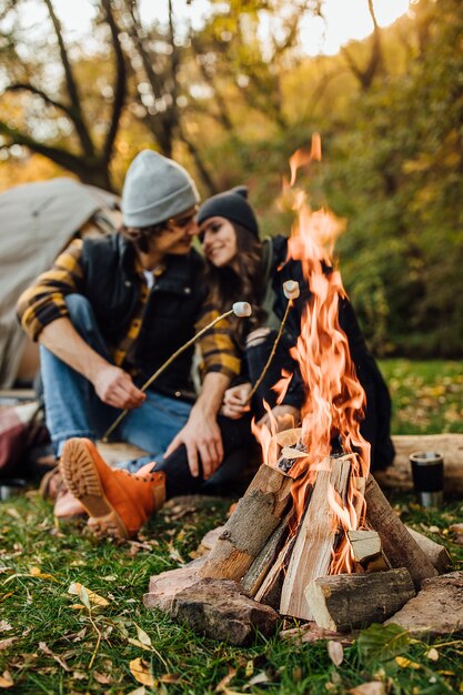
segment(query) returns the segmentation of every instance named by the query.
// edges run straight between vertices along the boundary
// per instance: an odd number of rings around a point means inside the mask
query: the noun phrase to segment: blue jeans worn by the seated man
[[[90,302],[81,294],[70,294],[66,303],[70,321],[78,333],[111,362]],[[47,348],[40,348],[40,362],[47,426],[56,455],[61,455],[64,442],[72,436],[92,441],[101,437],[120,411],[102,403],[93,385]],[[145,402],[130,411],[113,433],[114,440],[130,442],[149,453],[130,462],[132,472],[148,461],[162,460],[163,452],[187,423],[191,407],[184,401],[147,391]]]

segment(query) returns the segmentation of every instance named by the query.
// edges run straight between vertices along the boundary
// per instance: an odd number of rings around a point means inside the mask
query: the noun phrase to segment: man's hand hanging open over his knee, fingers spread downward
[[[193,477],[200,474],[198,456],[201,456],[204,480],[222,463],[222,436],[215,415],[204,412],[199,403],[193,406],[185,426],[169,444],[164,456],[170,456],[181,444],[187,447],[188,464]]]

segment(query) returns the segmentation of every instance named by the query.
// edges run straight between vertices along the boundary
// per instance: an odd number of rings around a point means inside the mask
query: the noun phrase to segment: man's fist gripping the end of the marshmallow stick
[[[131,376],[113,364],[100,366],[91,380],[99,399],[121,410],[140,407],[147,395],[137,389]]]

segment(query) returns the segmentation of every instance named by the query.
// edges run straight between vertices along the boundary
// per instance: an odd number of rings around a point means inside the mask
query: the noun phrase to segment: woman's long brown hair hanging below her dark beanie
[[[262,242],[241,224],[231,221],[230,224],[236,234],[238,272],[230,265],[215,268],[207,260],[205,281],[211,301],[220,313],[228,311],[233,302],[251,304],[252,315],[246,321],[236,316],[230,318],[236,342],[242,344],[244,336],[260,325],[263,318],[261,303],[265,288],[262,276]]]

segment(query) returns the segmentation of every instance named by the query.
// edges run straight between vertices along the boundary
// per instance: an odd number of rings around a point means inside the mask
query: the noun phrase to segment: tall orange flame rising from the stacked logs
[[[320,159],[321,140],[320,135],[314,135],[311,151],[299,150],[290,160],[291,180],[285,182],[283,190],[286,198],[294,185],[298,169]],[[343,454],[350,454],[351,474],[345,498],[341,498],[334,488],[329,494],[329,504],[335,514],[334,523],[340,531],[330,572],[352,572],[354,563],[346,532],[364,523],[364,498],[355,481],[366,477],[369,473],[370,444],[360,433],[365,393],[358,380],[348,338],[339,320],[348,296],[341,273],[333,266],[333,252],[345,223],[326,209],[312,211],[303,191],[290,192],[296,221],[288,243],[288,260],[301,262],[312,295],[302,316],[296,345],[291,351],[299,363],[308,394],[301,413],[301,440],[306,456],[296,459],[290,471],[294,479],[294,508],[300,521],[318,471],[330,469],[332,443],[338,441]],[[283,391],[288,385],[288,376],[283,376],[276,387]],[[269,447],[270,432],[265,437],[261,432],[260,439],[265,439]],[[269,461],[270,455],[268,449],[264,460]],[[272,455],[275,455],[274,452]]]

